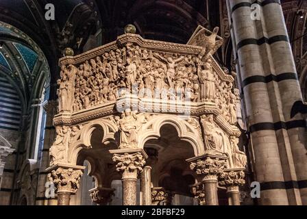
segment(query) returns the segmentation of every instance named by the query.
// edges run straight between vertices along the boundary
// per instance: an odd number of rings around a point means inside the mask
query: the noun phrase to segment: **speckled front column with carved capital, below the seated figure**
[[[110,150],[113,162],[117,162],[116,171],[122,173],[123,205],[136,205],[136,181],[143,172],[147,155],[143,149]]]

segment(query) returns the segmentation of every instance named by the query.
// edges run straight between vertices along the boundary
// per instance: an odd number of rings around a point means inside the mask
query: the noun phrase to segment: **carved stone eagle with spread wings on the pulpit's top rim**
[[[198,55],[199,60],[204,57],[204,60],[207,60],[209,55],[213,55],[219,47],[223,44],[223,38],[217,36],[219,32],[219,27],[214,27],[212,33],[208,36],[208,31],[204,27],[197,27],[195,34],[191,37],[191,40],[188,41],[188,44],[197,45],[203,47],[201,52]]]

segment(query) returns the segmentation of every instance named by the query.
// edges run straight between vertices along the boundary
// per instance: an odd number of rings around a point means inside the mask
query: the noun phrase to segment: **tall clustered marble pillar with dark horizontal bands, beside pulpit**
[[[302,198],[297,189],[297,173],[302,170],[295,169],[293,148],[299,147],[301,152],[304,148],[305,123],[299,116],[291,119],[290,112],[293,103],[302,100],[302,94],[280,2],[256,1],[259,20],[251,18],[253,3],[227,1],[256,180],[261,185],[260,203],[299,205]],[[306,162],[306,157],[302,162]]]

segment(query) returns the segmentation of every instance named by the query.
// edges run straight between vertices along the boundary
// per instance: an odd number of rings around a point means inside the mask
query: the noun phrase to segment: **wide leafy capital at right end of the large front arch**
[[[226,167],[227,157],[223,155],[212,155],[206,153],[204,155],[186,159],[187,162],[191,162],[190,168],[194,170],[197,175],[203,177],[204,180],[217,180],[217,176],[223,172]]]

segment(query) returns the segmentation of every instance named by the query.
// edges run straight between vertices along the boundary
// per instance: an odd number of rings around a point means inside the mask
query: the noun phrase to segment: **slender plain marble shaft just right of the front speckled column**
[[[151,205],[151,167],[145,166],[140,174],[140,205]]]

